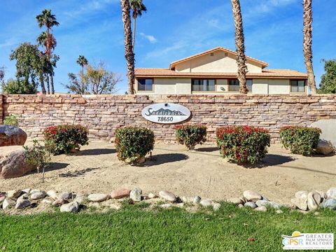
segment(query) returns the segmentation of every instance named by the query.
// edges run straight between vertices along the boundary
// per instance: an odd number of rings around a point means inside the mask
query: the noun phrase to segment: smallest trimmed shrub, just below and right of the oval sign
[[[176,125],[176,140],[189,150],[195,149],[196,144],[207,141],[207,127],[202,125]]]

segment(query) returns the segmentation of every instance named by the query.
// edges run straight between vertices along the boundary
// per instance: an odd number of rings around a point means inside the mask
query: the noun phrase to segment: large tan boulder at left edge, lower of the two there
[[[26,151],[22,146],[0,147],[0,179],[23,176],[35,169],[27,164]]]

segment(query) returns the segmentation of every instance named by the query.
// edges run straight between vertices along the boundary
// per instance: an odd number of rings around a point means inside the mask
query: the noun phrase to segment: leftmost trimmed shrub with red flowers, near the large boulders
[[[47,127],[44,130],[45,148],[54,155],[69,154],[88,144],[87,133],[81,125]]]

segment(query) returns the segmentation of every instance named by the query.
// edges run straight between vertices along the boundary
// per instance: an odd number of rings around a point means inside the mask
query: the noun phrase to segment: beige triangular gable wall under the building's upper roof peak
[[[207,55],[176,64],[175,71],[224,73],[237,72],[235,55],[228,53],[227,56],[225,56],[225,52],[223,51],[216,51],[213,53],[214,56],[211,56],[211,54],[208,53]],[[246,65],[250,73],[261,73],[262,71],[261,64],[247,60]]]

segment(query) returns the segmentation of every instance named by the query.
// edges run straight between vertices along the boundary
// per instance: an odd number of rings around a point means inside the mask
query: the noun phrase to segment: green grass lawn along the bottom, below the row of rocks
[[[283,251],[281,235],[335,232],[336,211],[148,211],[146,204],[107,214],[0,214],[0,251]],[[254,241],[249,241],[253,237]]]

